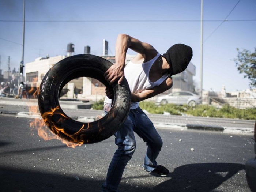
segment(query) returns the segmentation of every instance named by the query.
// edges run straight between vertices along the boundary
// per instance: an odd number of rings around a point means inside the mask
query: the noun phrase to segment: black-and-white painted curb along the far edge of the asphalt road
[[[23,118],[39,118],[41,119],[40,113],[29,113],[29,112],[1,112],[0,115],[9,115]],[[87,120],[94,121],[94,117],[86,116],[72,116],[74,120]],[[242,128],[242,127],[221,127],[221,126],[212,126],[212,125],[200,125],[200,124],[185,124],[185,123],[161,123],[157,121],[152,121],[155,128],[159,129],[178,129],[178,130],[201,130],[201,131],[218,131],[223,133],[249,133],[253,134],[253,128]]]

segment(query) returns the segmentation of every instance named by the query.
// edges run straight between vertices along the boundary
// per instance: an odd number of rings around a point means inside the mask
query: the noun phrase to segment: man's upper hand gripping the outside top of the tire
[[[121,84],[124,79],[124,68],[117,64],[111,65],[111,67],[105,72],[104,77],[110,85],[117,80],[118,84]]]

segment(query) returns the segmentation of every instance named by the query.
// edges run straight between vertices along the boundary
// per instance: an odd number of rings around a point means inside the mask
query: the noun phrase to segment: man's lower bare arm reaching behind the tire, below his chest
[[[163,93],[164,91],[170,89],[172,87],[172,85],[173,85],[172,78],[168,77],[159,86],[155,86],[152,89],[144,90],[140,93],[131,93],[132,102],[140,102],[145,99],[154,97],[155,95],[158,95],[158,94]]]

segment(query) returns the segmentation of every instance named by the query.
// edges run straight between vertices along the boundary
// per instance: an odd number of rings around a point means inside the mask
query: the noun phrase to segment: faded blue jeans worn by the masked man
[[[110,103],[104,103],[105,113],[110,110],[110,106]],[[147,171],[153,171],[155,167],[157,167],[156,158],[163,145],[162,139],[157,133],[153,123],[139,107],[131,109],[125,123],[114,134],[116,137],[115,143],[118,148],[109,165],[106,181],[102,185],[103,192],[117,191],[124,168],[132,158],[136,148],[134,132],[137,133],[148,146],[143,167]]]

